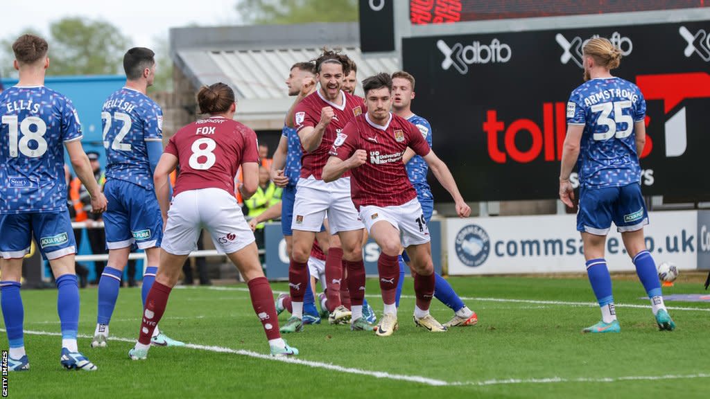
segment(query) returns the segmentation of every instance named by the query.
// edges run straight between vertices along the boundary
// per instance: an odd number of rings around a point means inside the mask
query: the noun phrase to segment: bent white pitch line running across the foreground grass
[[[0,329],[0,332],[6,332],[5,329]],[[46,332],[46,331],[25,331],[25,334],[33,335],[49,335],[54,337],[60,337],[62,334],[58,332]],[[80,338],[92,338],[90,335],[80,334]],[[109,341],[120,341],[120,342],[130,342],[133,343],[135,339],[121,338],[121,337],[109,337]],[[435,378],[428,378],[423,376],[408,376],[405,374],[392,374],[385,371],[370,371],[363,370],[361,368],[344,367],[338,366],[337,364],[322,363],[320,361],[309,361],[296,359],[293,357],[273,357],[266,354],[260,354],[253,351],[246,351],[244,349],[231,349],[225,348],[223,346],[210,346],[210,345],[199,345],[199,344],[186,344],[185,348],[197,349],[200,351],[211,351],[223,354],[237,354],[241,356],[249,356],[256,359],[263,359],[268,361],[280,361],[281,363],[289,364],[299,364],[302,366],[309,366],[312,368],[324,368],[330,371],[339,371],[341,373],[358,374],[361,376],[371,376],[375,378],[386,378],[395,381],[408,381],[412,383],[422,383],[428,386],[494,386],[494,385],[520,385],[520,384],[542,384],[542,383],[616,383],[621,381],[661,381],[661,380],[679,380],[679,379],[692,379],[692,378],[710,378],[710,374],[697,373],[697,374],[667,374],[664,376],[621,376],[621,377],[603,377],[603,378],[562,378],[562,377],[550,377],[550,378],[507,378],[503,380],[493,379],[484,381],[443,381],[437,380]]]

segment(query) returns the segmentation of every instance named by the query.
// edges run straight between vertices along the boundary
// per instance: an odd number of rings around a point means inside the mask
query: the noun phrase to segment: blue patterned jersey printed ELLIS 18
[[[64,212],[63,143],[82,138],[70,99],[44,86],[0,94],[0,214]]]

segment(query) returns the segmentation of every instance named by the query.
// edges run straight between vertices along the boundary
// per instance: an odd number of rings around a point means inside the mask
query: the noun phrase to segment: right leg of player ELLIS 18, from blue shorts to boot
[[[60,362],[67,369],[94,371],[97,366],[77,347],[79,285],[75,273],[76,242],[69,212],[33,214],[32,229],[57,284],[57,312],[62,331]]]

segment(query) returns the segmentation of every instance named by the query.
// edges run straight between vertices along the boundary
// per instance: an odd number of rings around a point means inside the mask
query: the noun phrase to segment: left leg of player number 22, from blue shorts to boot
[[[109,260],[99,278],[98,307],[96,329],[92,348],[100,348],[107,345],[109,337],[109,322],[116,307],[116,300],[119,297],[121,288],[121,275],[129,260],[129,253],[133,246],[133,236],[131,236],[131,224],[129,208],[126,198],[130,193],[124,192],[132,186],[130,183],[119,180],[109,180],[104,186],[108,204],[107,210],[103,214],[104,230],[106,231],[106,246],[109,248]]]

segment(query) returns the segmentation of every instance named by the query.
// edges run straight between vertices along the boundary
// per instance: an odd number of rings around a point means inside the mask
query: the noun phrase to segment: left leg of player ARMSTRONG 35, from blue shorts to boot
[[[597,190],[582,187],[579,190],[577,230],[581,231],[584,245],[586,273],[601,310],[601,322],[583,329],[582,332],[621,331],[616,320],[611,275],[604,259],[606,234],[611,226],[611,207],[617,197],[616,187]]]

